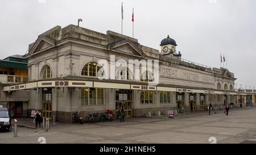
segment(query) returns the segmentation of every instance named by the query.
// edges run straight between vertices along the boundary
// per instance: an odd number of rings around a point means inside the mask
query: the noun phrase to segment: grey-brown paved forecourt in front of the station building
[[[256,143],[256,107],[232,109],[226,116],[208,111],[174,118],[126,118],[125,122],[50,123],[49,131],[34,128],[33,119],[18,120],[18,137],[0,132],[0,143]]]

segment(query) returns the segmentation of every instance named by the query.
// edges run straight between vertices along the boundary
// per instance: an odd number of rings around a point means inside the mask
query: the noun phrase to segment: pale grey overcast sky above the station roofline
[[[256,1],[179,0],[179,1],[64,1],[9,0],[0,5],[0,59],[24,55],[38,35],[59,25],[77,24],[106,33],[132,36],[139,43],[160,49],[169,34],[176,41],[182,58],[210,67],[220,67],[220,52],[233,72],[237,87],[256,88]],[[226,67],[226,64],[225,64]]]

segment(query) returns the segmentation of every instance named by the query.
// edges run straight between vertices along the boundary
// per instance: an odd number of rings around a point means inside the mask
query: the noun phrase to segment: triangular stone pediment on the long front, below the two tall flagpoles
[[[126,53],[127,55],[144,57],[144,53],[141,51],[141,49],[136,47],[136,45],[134,45],[129,40],[122,40],[122,41],[119,41],[118,43],[111,44],[109,45],[109,49],[111,51]]]

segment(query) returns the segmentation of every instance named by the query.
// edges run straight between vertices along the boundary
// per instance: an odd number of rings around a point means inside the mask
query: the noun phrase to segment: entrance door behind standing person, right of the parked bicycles
[[[125,114],[127,118],[130,118],[133,115],[131,110],[132,106],[132,90],[127,89],[117,89],[115,90],[115,116],[118,116],[119,109],[124,106],[125,107]]]

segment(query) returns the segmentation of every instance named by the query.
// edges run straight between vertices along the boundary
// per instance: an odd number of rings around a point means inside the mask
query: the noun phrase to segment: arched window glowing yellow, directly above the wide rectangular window
[[[102,77],[104,72],[98,74],[98,71],[101,70],[101,66],[98,66],[97,62],[88,62],[82,68],[81,76],[88,76],[88,77]]]

